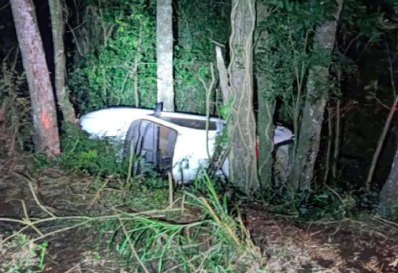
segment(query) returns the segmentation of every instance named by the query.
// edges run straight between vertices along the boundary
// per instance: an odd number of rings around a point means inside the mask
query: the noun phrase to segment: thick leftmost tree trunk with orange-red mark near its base
[[[45,150],[48,155],[58,155],[60,143],[54,95],[33,0],[11,0],[10,3],[32,102],[35,148]]]

